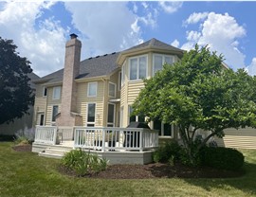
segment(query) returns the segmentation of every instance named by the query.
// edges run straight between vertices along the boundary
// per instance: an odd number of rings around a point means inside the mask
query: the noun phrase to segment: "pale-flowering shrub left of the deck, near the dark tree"
[[[18,130],[14,134],[14,143],[15,144],[32,144],[34,141],[35,130],[33,128],[28,129],[27,127],[24,130]]]

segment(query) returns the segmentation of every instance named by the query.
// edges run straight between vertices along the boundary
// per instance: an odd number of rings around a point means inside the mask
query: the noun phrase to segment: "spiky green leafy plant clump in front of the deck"
[[[90,152],[83,152],[81,149],[66,152],[62,159],[62,165],[69,170],[74,170],[79,176],[106,170],[107,164],[106,159],[101,159]]]

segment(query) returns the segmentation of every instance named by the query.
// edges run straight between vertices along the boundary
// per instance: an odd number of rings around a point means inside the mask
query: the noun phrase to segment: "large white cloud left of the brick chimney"
[[[52,5],[50,2],[9,2],[0,11],[1,36],[13,40],[21,56],[27,57],[39,76],[64,64],[64,28],[53,18],[41,21],[40,28],[35,28],[35,21],[42,10]]]

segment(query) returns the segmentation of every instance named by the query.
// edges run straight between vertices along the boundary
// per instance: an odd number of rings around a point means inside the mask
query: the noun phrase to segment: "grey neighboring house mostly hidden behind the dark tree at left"
[[[35,89],[35,84],[33,81],[37,81],[40,79],[36,74],[30,73],[28,74],[30,79],[29,85],[32,89]],[[19,130],[25,130],[32,128],[33,125],[33,113],[34,107],[30,106],[27,114],[22,116],[21,118],[15,118],[13,122],[4,123],[0,125],[0,135],[14,135]]]

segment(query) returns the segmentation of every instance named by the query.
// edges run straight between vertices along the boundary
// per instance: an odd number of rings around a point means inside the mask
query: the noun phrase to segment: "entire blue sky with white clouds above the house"
[[[11,39],[36,74],[64,66],[75,32],[82,59],[156,38],[189,50],[196,43],[222,53],[234,70],[256,74],[256,2],[0,2],[0,36]]]

